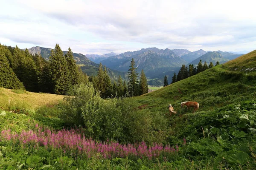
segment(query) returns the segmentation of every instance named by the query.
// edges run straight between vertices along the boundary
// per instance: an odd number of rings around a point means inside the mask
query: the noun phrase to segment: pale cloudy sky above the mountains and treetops
[[[1,0],[0,43],[81,54],[256,49],[255,0]]]

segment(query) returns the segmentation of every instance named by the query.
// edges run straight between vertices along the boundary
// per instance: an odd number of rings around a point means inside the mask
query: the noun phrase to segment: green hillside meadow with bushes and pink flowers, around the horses
[[[255,169],[256,74],[233,62],[132,98],[101,99],[90,84],[65,97],[0,88],[0,169]]]

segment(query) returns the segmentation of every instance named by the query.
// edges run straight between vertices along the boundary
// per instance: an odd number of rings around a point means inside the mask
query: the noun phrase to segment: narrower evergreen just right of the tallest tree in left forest
[[[71,48],[68,48],[67,54],[65,55],[67,60],[67,69],[68,69],[68,85],[71,87],[79,83],[79,72],[76,66],[76,61],[73,57],[73,52]]]

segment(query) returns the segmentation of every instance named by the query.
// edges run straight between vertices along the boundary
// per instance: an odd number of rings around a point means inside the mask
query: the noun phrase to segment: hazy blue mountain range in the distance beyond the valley
[[[45,59],[49,59],[51,48],[32,47],[29,49],[32,54],[39,53]],[[64,54],[67,51],[64,51]],[[167,75],[168,80],[171,81],[174,72],[178,72],[182,64],[197,65],[199,60],[202,62],[219,61],[224,63],[230,59],[241,56],[242,54],[234,54],[223,51],[189,51],[186,49],[158,49],[158,48],[142,48],[138,51],[128,51],[122,54],[114,52],[98,55],[98,54],[78,54],[73,53],[76,63],[81,66],[82,71],[87,75],[96,75],[99,67],[99,62],[107,67],[108,73],[112,80],[116,80],[119,74],[123,79],[127,79],[127,71],[131,64],[131,59],[134,58],[137,72],[144,70],[146,76],[150,80],[149,85],[161,85],[163,77]]]

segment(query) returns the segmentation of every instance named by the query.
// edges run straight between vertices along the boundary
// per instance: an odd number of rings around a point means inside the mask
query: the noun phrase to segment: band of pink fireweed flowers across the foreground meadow
[[[154,159],[160,155],[175,154],[179,150],[178,145],[176,145],[175,149],[170,147],[169,144],[163,147],[163,144],[154,143],[148,147],[145,142],[135,144],[120,144],[109,140],[107,142],[96,142],[92,138],[87,139],[84,134],[81,134],[81,129],[56,131],[47,128],[43,129],[38,125],[35,126],[36,130],[22,130],[21,133],[2,130],[0,137],[2,141],[18,142],[23,147],[32,146],[36,149],[41,146],[46,149],[60,149],[65,154],[73,156],[77,153],[78,156],[84,158],[97,156],[100,153],[105,159],[115,157]]]

